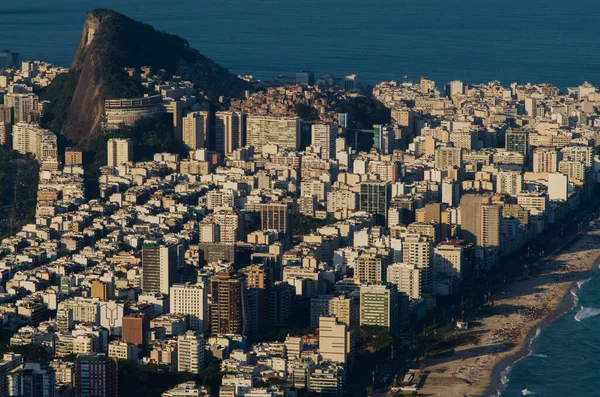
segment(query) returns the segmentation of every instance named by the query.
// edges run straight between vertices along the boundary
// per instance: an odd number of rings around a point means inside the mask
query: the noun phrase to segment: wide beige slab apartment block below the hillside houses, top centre
[[[300,147],[300,119],[297,117],[248,116],[246,144],[262,153],[267,144],[279,149],[298,150]]]

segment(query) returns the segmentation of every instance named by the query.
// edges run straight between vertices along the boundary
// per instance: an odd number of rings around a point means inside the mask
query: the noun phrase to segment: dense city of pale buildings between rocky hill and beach
[[[163,395],[341,395],[357,327],[409,329],[589,200],[600,169],[589,84],[563,95],[455,81],[440,95],[427,79],[381,83],[373,97],[391,119],[357,152],[349,137],[365,132],[335,112],[360,95],[355,76],[335,88],[302,72],[215,112],[191,83],[143,68],[155,93],[107,101],[106,127],[170,113],[189,154],[140,162],[131,140],[110,139],[100,198],[86,200],[81,151],[59,162],[35,125],[31,88],[53,69],[23,69],[0,76],[2,142],[42,171],[35,222],[0,242],[0,315],[11,345],[56,359],[5,355],[0,396],[33,378],[35,395],[94,384],[111,396],[117,360],[197,374],[215,358],[220,390]],[[303,121],[299,104],[319,119]],[[291,325],[314,333],[249,342]]]

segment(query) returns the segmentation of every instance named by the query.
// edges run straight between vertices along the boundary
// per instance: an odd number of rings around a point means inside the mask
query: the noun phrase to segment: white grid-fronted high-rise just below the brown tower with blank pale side
[[[171,313],[188,316],[189,328],[200,333],[208,329],[208,289],[203,284],[174,284],[170,289]]]

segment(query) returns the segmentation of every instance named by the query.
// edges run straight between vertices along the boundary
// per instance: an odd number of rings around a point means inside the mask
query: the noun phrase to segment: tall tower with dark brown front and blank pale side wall
[[[142,291],[169,293],[177,281],[177,271],[183,267],[183,252],[179,244],[145,241],[142,246]]]

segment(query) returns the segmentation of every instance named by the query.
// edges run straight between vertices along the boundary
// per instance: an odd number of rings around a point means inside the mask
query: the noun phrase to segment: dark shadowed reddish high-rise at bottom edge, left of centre
[[[117,397],[117,360],[102,354],[80,354],[75,361],[76,397]]]

